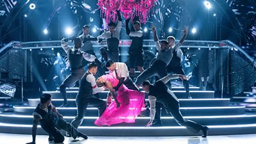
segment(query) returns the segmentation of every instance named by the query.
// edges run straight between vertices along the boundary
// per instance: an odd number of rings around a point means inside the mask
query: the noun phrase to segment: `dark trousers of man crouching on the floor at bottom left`
[[[77,134],[80,133],[73,125],[66,122],[63,118],[55,118],[53,122],[41,122],[40,125],[42,129],[53,138],[55,143],[62,143],[65,140],[60,130],[68,132],[74,139],[76,139]]]

